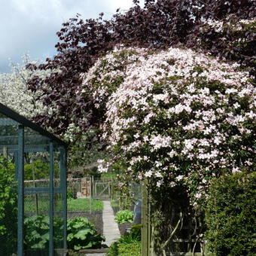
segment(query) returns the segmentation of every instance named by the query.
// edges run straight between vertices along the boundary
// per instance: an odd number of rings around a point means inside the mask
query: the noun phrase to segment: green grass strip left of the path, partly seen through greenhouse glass
[[[78,199],[68,199],[67,200],[68,211],[89,211],[90,210],[90,199],[89,198],[78,198]],[[54,205],[54,210],[56,212],[62,211],[62,201],[56,200]],[[101,210],[103,209],[103,203],[100,200],[92,199],[92,210]],[[24,199],[24,211],[25,212],[36,212],[36,203],[33,198]],[[38,213],[48,212],[49,211],[49,200],[46,198],[38,197]]]

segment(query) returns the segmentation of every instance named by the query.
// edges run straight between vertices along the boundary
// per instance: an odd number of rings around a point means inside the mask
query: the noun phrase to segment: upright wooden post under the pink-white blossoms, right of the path
[[[142,255],[150,256],[148,179],[142,185]]]

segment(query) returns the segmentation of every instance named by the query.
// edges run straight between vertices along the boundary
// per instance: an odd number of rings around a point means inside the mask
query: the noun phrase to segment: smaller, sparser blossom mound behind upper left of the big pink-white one
[[[143,48],[115,47],[114,50],[97,59],[95,65],[82,75],[82,88],[78,93],[91,93],[96,108],[105,106],[108,97],[123,83],[131,65],[145,59],[147,52]]]

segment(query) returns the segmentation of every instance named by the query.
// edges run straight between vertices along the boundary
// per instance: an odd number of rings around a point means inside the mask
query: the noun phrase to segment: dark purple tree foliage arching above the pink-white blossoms
[[[41,90],[44,105],[56,109],[56,115],[40,114],[34,119],[50,126],[60,136],[65,133],[72,117],[81,131],[102,122],[104,109],[93,107],[90,93],[81,96],[81,73],[87,72],[99,56],[116,44],[163,49],[170,46],[190,47],[203,50],[227,60],[236,60],[247,67],[255,63],[255,32],[244,29],[234,32],[225,27],[221,33],[207,28],[205,20],[224,20],[233,23],[239,19],[255,17],[256,4],[250,0],[146,0],[140,8],[134,0],[133,8],[122,14],[117,10],[111,20],[99,18],[81,20],[75,18],[62,24],[57,32],[57,55],[46,59],[45,64],[28,69],[58,69],[45,79],[32,78],[30,90]],[[205,28],[205,29],[203,29]],[[227,38],[227,40],[221,40]],[[244,44],[233,44],[245,38]],[[84,118],[86,117],[86,118]]]

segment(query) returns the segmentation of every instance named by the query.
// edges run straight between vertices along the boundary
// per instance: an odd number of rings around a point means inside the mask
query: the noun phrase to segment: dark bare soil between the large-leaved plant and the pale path
[[[102,211],[69,211],[68,218],[83,217],[87,218],[96,227],[98,233],[103,236]]]

